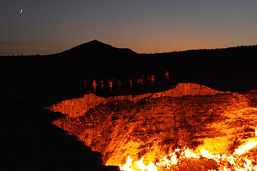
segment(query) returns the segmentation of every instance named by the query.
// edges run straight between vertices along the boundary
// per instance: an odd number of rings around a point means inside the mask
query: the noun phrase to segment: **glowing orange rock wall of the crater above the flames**
[[[213,154],[229,154],[244,140],[256,136],[255,99],[252,94],[221,92],[188,83],[136,97],[89,94],[50,109],[68,114],[54,125],[101,152],[106,165],[118,166],[128,156],[155,163],[185,146],[204,146]],[[193,160],[190,162],[193,166]],[[208,167],[200,168],[217,169],[214,164]]]

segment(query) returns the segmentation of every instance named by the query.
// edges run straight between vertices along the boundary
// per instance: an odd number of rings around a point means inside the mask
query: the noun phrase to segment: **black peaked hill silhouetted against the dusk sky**
[[[88,43],[83,43],[78,46],[75,46],[69,50],[58,53],[57,55],[64,56],[77,56],[77,57],[109,57],[116,58],[123,55],[131,56],[136,55],[137,53],[129,48],[117,48],[109,44],[93,40]]]

